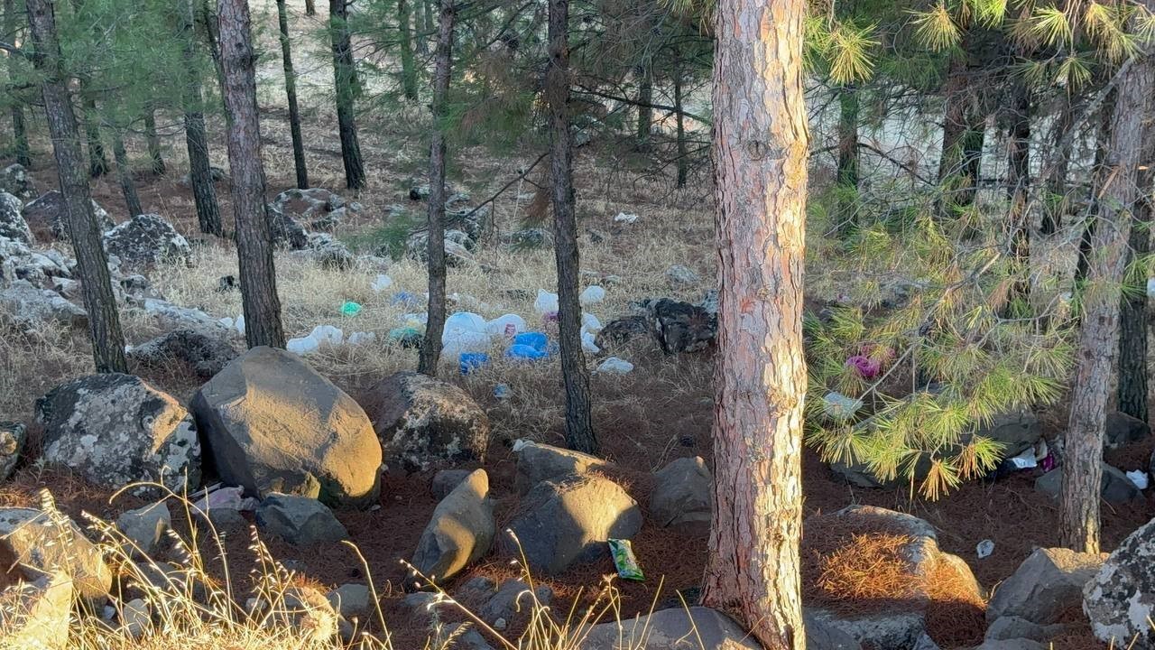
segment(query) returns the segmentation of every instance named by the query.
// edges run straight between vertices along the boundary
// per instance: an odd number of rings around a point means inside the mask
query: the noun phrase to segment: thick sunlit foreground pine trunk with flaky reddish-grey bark
[[[804,0],[718,0],[714,518],[702,603],[802,650]]]

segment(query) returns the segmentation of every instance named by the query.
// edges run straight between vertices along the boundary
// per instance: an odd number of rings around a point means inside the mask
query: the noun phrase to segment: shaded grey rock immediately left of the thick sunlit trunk
[[[649,512],[658,525],[683,532],[709,531],[714,477],[701,457],[678,458],[654,474]]]

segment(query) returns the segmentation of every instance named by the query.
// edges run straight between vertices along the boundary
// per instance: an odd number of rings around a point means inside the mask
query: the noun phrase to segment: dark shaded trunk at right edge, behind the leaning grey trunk
[[[1155,128],[1143,131],[1139,163],[1134,226],[1127,244],[1127,261],[1152,250],[1152,192],[1155,190]],[[1147,422],[1147,282],[1128,287],[1119,303],[1119,411]]]

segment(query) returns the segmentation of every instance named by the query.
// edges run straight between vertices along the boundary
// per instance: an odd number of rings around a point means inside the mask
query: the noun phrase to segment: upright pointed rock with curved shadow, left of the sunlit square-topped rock
[[[489,475],[476,470],[442,498],[417,542],[413,568],[440,583],[489,553],[497,533],[489,496]]]

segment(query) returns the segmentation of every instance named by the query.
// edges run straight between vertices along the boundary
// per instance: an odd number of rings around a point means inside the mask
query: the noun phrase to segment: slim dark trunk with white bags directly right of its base
[[[453,28],[457,20],[455,0],[441,0],[433,76],[433,138],[430,143],[429,232],[429,318],[417,371],[437,376],[441,361],[441,334],[445,330],[445,131],[441,121],[448,109],[449,73],[453,66]]]

